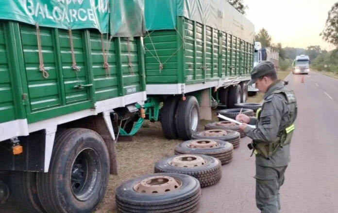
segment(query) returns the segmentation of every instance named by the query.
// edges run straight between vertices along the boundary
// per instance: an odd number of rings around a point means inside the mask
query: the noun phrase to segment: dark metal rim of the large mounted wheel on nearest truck
[[[74,160],[70,183],[72,193],[78,200],[89,199],[100,179],[99,155],[93,149],[82,150]]]

